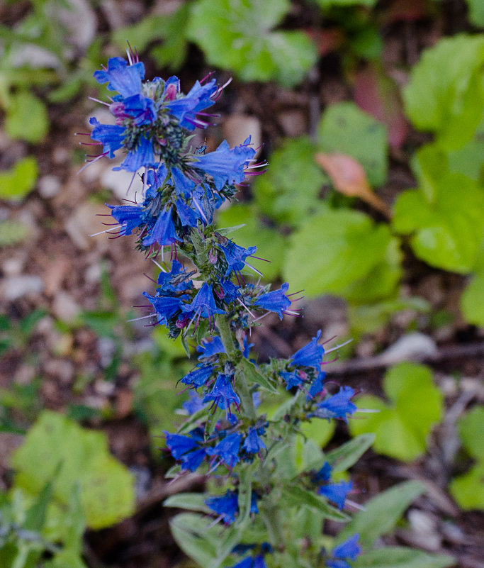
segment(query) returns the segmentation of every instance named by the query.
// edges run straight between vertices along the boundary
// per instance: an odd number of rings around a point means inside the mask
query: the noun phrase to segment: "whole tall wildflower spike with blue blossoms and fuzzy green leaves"
[[[210,74],[184,94],[176,77],[146,81],[131,49],[128,61],[113,57],[94,77],[107,84],[114,123],[91,118],[91,138],[102,151],[90,159],[122,150],[114,169],[133,172],[133,179],[143,172],[139,201],[109,206],[107,232],[135,235],[137,249],[159,269],[142,317],[180,338],[187,355],[188,338],[197,344],[198,361],[179,379],[190,391],[188,418],[165,433],[177,462],[168,477],[205,474],[214,480],[213,494],[169,500],[201,512],[174,518],[176,540],[210,568],[349,567],[359,554],[358,535],[331,549],[322,529],[325,519],[349,519],[351,481],[332,476],[350,467],[371,437],[327,455],[305,440],[303,458],[294,455],[303,423],[348,421],[357,410],[354,389],[326,381],[325,356],[336,347],[325,350],[320,331],[288,360],[252,358],[252,328],[269,312],[298,316],[300,298],[287,283],[261,284],[251,264],[257,246],[237,245],[229,236],[234,228],[215,228],[215,211],[234,198],[237,185],[266,168],[250,137],[233,148],[224,141],[213,152],[190,144],[193,130],[215,116],[207,110],[226,84],[219,87]],[[269,398],[278,401],[270,418]]]

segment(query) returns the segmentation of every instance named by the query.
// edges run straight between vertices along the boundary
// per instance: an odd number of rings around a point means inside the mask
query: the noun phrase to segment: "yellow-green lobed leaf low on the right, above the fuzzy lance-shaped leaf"
[[[427,436],[442,414],[442,394],[424,365],[404,362],[392,367],[383,381],[391,404],[378,396],[361,396],[359,408],[379,412],[351,421],[351,435],[375,433],[374,450],[399,460],[414,460],[427,447]],[[422,404],[422,400],[425,404]]]

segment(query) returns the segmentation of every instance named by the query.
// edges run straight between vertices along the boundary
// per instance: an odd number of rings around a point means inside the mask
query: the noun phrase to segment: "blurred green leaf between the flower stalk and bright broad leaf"
[[[269,262],[251,258],[247,261],[262,272],[267,281],[276,279],[281,274],[286,238],[278,231],[262,225],[256,211],[247,205],[232,205],[218,214],[217,225],[220,227],[231,227],[240,223],[244,223],[244,226],[235,232],[237,245],[246,248],[257,246],[255,255]],[[252,269],[246,270],[254,274]]]

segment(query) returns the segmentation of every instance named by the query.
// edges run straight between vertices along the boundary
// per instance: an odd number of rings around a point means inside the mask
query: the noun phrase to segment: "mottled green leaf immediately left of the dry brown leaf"
[[[320,210],[318,194],[327,177],[314,161],[315,145],[308,138],[286,140],[269,157],[266,174],[257,177],[254,196],[264,215],[298,226]]]

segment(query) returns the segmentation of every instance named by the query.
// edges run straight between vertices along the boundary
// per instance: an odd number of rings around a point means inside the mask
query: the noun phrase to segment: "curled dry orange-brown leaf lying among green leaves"
[[[390,208],[373,193],[368,184],[364,167],[353,157],[344,154],[315,155],[317,165],[327,172],[335,189],[350,197],[359,197],[367,204],[378,209],[386,217],[390,217]]]

